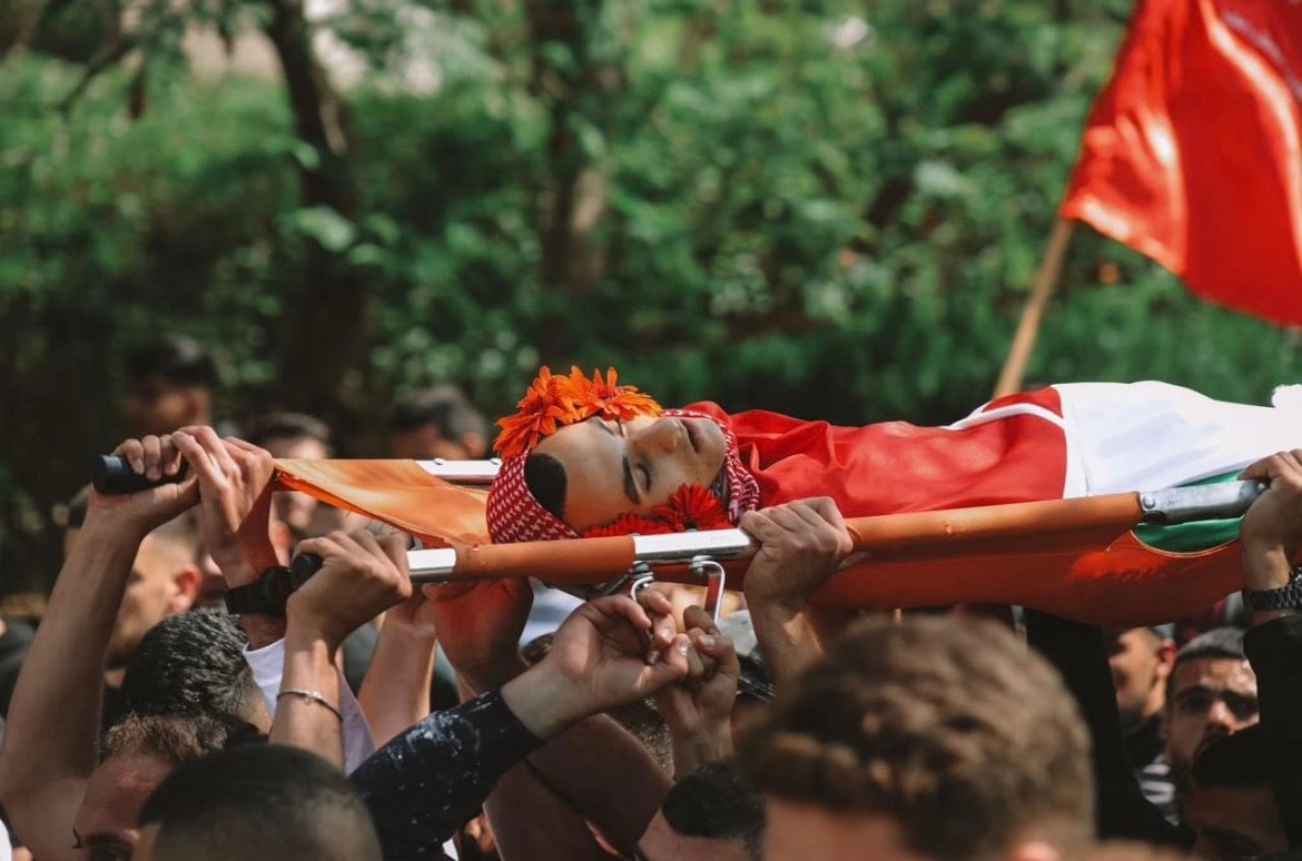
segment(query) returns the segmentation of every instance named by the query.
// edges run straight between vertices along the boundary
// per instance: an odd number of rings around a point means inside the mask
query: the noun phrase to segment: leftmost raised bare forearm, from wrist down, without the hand
[[[49,598],[9,705],[0,801],[40,857],[68,835],[99,760],[104,656],[139,540],[82,533]]]

